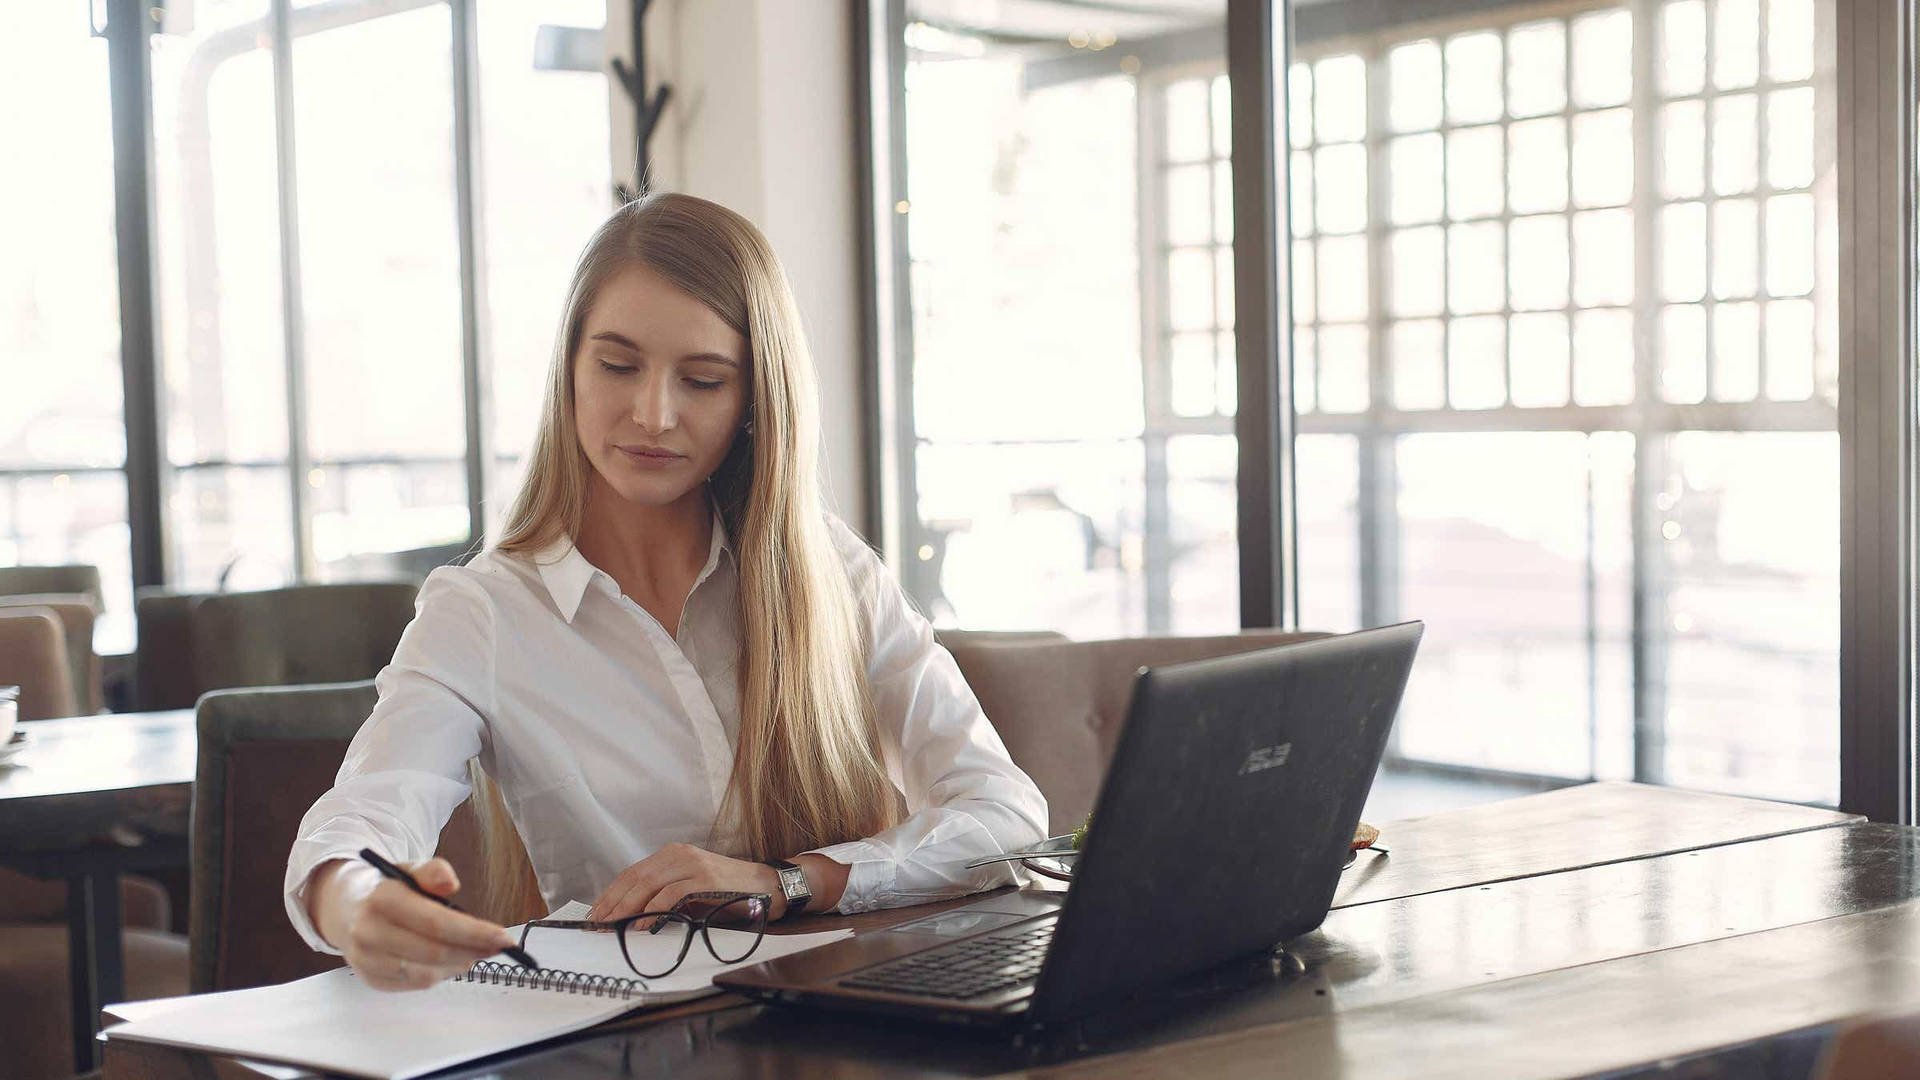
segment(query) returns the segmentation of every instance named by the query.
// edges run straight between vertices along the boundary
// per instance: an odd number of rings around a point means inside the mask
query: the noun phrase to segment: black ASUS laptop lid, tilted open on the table
[[[1029,1015],[1319,926],[1421,628],[1142,671]]]

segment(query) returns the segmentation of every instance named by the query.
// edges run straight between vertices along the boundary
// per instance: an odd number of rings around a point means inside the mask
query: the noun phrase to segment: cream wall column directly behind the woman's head
[[[632,46],[607,6],[607,46]],[[655,188],[743,213],[787,265],[820,369],[824,480],[866,523],[852,6],[837,0],[655,0],[647,81],[672,86],[649,146]],[[614,175],[634,177],[634,111],[614,92]]]

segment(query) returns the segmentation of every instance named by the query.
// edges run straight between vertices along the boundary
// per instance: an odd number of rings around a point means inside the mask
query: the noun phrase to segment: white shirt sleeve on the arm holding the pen
[[[470,784],[493,713],[493,617],[459,567],[434,571],[415,600],[380,698],[348,746],[332,790],[300,821],[286,863],[286,915],[319,951],[338,953],[307,919],[307,878],[330,859],[372,847],[396,863],[430,859]]]

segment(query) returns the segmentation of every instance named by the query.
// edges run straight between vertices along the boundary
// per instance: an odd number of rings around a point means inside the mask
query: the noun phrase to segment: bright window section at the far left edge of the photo
[[[92,563],[132,642],[108,46],[73,4],[0,13],[0,565]],[[27,163],[40,165],[29,167]],[[58,161],[60,167],[48,167]]]

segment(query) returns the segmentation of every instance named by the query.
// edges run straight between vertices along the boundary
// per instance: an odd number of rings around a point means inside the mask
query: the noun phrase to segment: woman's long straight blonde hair
[[[645,265],[747,338],[743,432],[710,484],[739,567],[739,738],[720,822],[735,853],[783,859],[897,819],[866,682],[864,628],[820,498],[820,404],[799,306],[766,236],[724,206],[649,194],[588,242],[555,338],[545,405],[501,552],[580,536],[591,463],[574,430],[572,361],[601,286]],[[538,907],[499,790],[472,767],[493,911]],[[516,890],[503,896],[501,890]],[[530,894],[530,896],[528,896]]]

